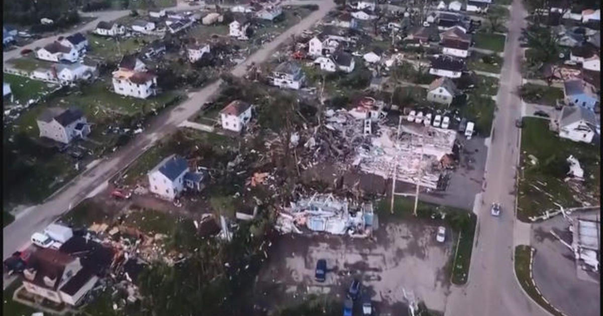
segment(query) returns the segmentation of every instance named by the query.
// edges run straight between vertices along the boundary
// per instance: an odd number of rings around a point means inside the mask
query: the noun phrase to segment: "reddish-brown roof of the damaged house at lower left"
[[[73,262],[75,258],[72,256],[60,252],[54,249],[37,249],[31,253],[30,258],[27,261],[27,269],[33,268],[36,270],[36,276],[33,280],[25,279],[27,282],[34,283],[39,287],[49,288],[56,291],[58,284],[65,271],[65,266]],[[44,277],[54,279],[54,283],[51,286],[46,285]]]

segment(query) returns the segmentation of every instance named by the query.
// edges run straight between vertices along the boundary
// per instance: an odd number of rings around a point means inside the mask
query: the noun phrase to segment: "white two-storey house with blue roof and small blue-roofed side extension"
[[[201,191],[206,173],[191,172],[185,158],[171,155],[148,172],[149,191],[166,200],[174,200],[182,191]]]

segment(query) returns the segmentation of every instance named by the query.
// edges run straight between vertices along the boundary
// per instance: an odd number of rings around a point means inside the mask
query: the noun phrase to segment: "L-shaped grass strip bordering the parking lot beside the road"
[[[414,199],[408,197],[396,197],[394,199],[394,214],[390,212],[389,198],[379,200],[379,203],[377,203],[377,212],[379,212],[379,216],[381,217],[409,218],[413,216],[413,208]],[[443,220],[440,215],[442,213],[446,214]],[[456,258],[453,258],[455,264],[453,267],[449,267],[451,268],[449,273],[451,273],[452,283],[456,285],[466,283],[473,250],[473,235],[475,235],[475,225],[477,223],[475,214],[463,209],[419,201],[417,216],[424,220],[444,222],[456,234],[459,234],[461,240],[458,241],[458,249],[456,249],[455,243],[455,249],[453,250],[456,253]]]

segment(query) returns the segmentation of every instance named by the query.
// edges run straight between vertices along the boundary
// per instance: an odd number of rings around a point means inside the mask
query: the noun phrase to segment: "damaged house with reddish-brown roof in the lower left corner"
[[[79,305],[98,276],[83,267],[80,258],[54,249],[32,252],[23,271],[25,290],[55,303]]]

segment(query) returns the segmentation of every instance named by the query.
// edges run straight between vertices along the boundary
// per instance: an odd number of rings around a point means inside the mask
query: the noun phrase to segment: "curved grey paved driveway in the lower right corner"
[[[532,275],[540,293],[568,316],[601,315],[601,292],[595,280],[578,279],[573,252],[555,234],[572,243],[569,223],[563,216],[532,224],[532,247],[536,249]],[[578,268],[579,269],[579,268]]]

